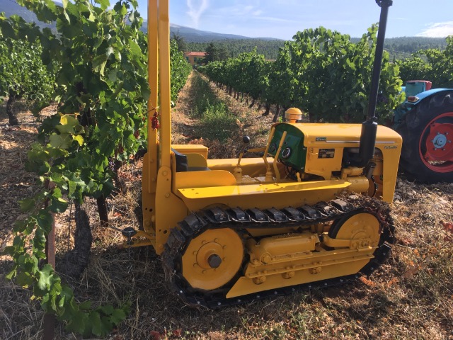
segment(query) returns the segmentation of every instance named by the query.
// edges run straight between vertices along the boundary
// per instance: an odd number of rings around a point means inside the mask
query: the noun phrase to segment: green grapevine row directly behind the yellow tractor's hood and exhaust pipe
[[[326,28],[298,32],[280,48],[275,62],[256,52],[201,68],[212,81],[283,108],[295,106],[311,121],[360,122],[367,115],[377,26],[353,43]],[[377,111],[382,120],[401,101],[396,64],[384,52]],[[276,118],[276,117],[275,117]]]

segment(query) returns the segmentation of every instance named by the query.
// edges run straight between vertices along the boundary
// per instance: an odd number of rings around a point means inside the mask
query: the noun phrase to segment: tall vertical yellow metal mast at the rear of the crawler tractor
[[[159,169],[171,165],[170,22],[168,0],[148,0],[148,152],[143,161],[143,227],[156,235]],[[156,120],[159,114],[160,128]],[[164,190],[161,188],[161,190]],[[166,193],[168,190],[166,189]],[[168,197],[168,196],[164,196]],[[159,237],[159,235],[158,235]]]

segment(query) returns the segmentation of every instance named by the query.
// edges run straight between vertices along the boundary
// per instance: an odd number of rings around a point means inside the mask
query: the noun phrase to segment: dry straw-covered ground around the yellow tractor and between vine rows
[[[256,145],[266,140],[265,135],[260,139],[259,131],[270,125],[270,118],[261,118],[260,113],[223,91],[213,91],[235,115],[259,123],[244,124],[240,132],[251,135]],[[173,135],[183,142],[190,137],[190,129],[196,128],[195,121],[181,111],[190,107],[186,100],[183,95],[176,108],[176,120],[183,125]],[[6,131],[4,111],[0,111],[0,119],[0,232],[5,239],[19,214],[17,200],[27,194],[20,183],[33,183],[33,177],[21,170],[23,161],[17,162],[13,152],[22,159],[34,130],[27,132],[26,138],[25,126]],[[239,141],[226,145],[209,141],[213,154],[235,157],[241,143],[241,135],[236,136]],[[17,144],[11,142],[10,148],[6,140]],[[17,175],[13,175],[12,166]],[[120,169],[123,190],[108,199],[113,226],[138,227],[133,209],[140,176],[140,162]],[[130,301],[130,314],[108,339],[453,339],[453,235],[442,225],[453,222],[453,184],[423,186],[401,178],[396,195],[397,244],[389,261],[364,282],[306,290],[224,310],[190,307],[166,285],[160,259],[152,249],[117,249],[116,244],[122,241],[120,233],[99,226],[96,205],[91,201],[85,207],[93,229],[91,262],[80,280],[63,279],[80,301],[91,300],[94,305]],[[71,221],[69,211],[58,217],[57,259],[74,245]],[[1,261],[0,276],[4,276],[11,261],[6,256]],[[30,297],[28,290],[0,281],[0,339],[42,338],[43,313]],[[55,339],[79,337],[65,333],[59,324]]]

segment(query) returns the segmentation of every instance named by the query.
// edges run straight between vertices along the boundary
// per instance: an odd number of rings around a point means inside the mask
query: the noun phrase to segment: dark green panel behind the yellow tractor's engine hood
[[[275,157],[283,132],[287,132],[277,159],[287,166],[299,171],[304,171],[306,162],[306,147],[304,147],[304,134],[301,130],[288,123],[275,126],[275,133],[269,145],[269,154]]]

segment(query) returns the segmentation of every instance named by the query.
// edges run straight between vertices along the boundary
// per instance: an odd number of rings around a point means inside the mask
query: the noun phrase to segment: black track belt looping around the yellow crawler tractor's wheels
[[[185,246],[190,243],[191,239],[207,229],[228,227],[235,229],[239,233],[247,233],[245,229],[251,228],[302,227],[304,225],[336,220],[340,217],[348,217],[358,212],[370,212],[377,216],[382,230],[378,248],[373,254],[374,258],[355,275],[293,285],[229,299],[225,297],[229,291],[229,286],[217,290],[197,290],[191,288],[185,278],[183,278],[180,263]],[[394,244],[394,223],[390,216],[389,205],[382,202],[382,200],[367,196],[350,196],[349,198],[345,196],[327,203],[321,202],[313,206],[303,205],[297,209],[292,207],[278,210],[275,208],[265,210],[253,208],[244,211],[240,208],[226,210],[210,208],[194,212],[179,222],[177,227],[171,229],[162,254],[162,261],[166,277],[171,281],[171,285],[173,285],[179,297],[190,305],[202,305],[217,309],[219,307],[252,302],[253,300],[261,300],[271,296],[288,295],[296,290],[306,288],[339,285],[350,280],[356,280],[362,275],[369,276],[389,256],[392,244]],[[237,278],[239,278],[239,274]],[[234,280],[237,278],[234,278]]]

